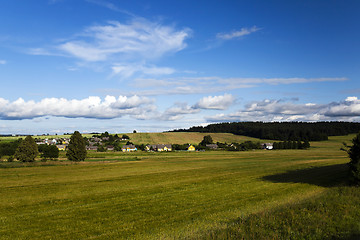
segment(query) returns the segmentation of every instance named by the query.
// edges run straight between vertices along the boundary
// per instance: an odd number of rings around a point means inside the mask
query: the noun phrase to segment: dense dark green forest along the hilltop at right
[[[174,132],[233,133],[281,141],[322,141],[328,136],[358,133],[356,122],[233,122],[178,129]]]

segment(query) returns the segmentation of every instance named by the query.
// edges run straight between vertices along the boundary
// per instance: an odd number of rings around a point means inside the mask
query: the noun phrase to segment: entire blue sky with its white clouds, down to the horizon
[[[359,1],[4,0],[0,134],[359,121]]]

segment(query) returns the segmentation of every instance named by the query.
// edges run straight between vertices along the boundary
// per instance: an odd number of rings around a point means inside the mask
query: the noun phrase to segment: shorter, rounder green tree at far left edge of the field
[[[31,136],[27,136],[15,151],[14,157],[22,162],[33,162],[39,154],[37,144]]]

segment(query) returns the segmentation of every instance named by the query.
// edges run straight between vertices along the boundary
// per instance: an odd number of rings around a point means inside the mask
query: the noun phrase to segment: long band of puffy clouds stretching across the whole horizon
[[[147,97],[106,96],[86,99],[45,98],[40,102],[24,101],[22,98],[10,102],[0,98],[0,119],[33,119],[44,116],[65,118],[114,119],[130,116],[134,119],[175,121],[187,114],[197,114],[201,110],[225,110],[233,105],[231,94],[208,96],[193,106],[186,103],[175,104],[160,113],[155,100]],[[327,104],[294,103],[294,100],[263,100],[248,103],[245,109],[229,114],[208,117],[209,122],[231,121],[354,121],[360,117],[360,100],[348,97],[344,101]]]

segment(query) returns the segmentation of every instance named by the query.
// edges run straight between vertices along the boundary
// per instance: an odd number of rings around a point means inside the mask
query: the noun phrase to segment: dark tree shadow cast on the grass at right
[[[274,183],[307,183],[321,187],[334,187],[346,181],[347,164],[312,167],[262,177]]]

